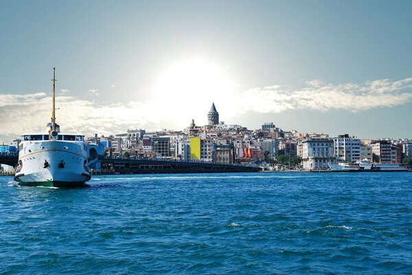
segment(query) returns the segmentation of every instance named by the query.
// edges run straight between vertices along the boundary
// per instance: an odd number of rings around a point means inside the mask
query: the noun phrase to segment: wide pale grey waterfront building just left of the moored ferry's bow
[[[328,164],[336,163],[332,138],[308,137],[301,144],[305,170],[328,169]]]

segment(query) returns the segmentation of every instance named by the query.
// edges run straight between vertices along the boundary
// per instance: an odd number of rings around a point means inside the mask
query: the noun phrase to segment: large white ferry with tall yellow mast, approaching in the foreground
[[[84,135],[60,133],[55,115],[55,69],[52,81],[53,106],[49,131],[22,135],[14,180],[26,186],[83,186],[91,178]]]

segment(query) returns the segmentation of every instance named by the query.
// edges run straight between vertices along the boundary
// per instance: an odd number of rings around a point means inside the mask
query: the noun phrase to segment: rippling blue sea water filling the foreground
[[[0,274],[412,274],[412,173],[0,177]]]

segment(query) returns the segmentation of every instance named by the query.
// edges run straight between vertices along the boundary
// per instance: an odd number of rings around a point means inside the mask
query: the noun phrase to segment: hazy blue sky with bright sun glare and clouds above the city
[[[264,122],[412,138],[412,1],[0,1],[0,142]]]

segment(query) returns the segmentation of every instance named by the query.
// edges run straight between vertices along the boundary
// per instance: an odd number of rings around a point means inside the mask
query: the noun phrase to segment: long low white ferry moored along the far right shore
[[[328,164],[332,171],[355,171],[355,172],[395,172],[407,171],[408,168],[399,164],[377,164],[366,161],[358,161],[356,163],[339,163]]]

